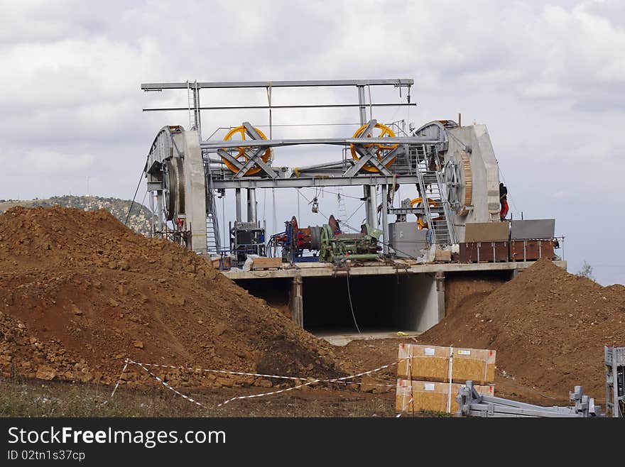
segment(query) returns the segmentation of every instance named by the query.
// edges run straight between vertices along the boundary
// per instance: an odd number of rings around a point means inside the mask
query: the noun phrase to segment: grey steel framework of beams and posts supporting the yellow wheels
[[[168,82],[168,83],[144,83],[141,89],[145,92],[161,92],[169,89],[187,89],[189,96],[188,108],[174,107],[170,109],[144,109],[149,110],[188,110],[190,113],[190,121],[192,128],[197,130],[200,137],[200,148],[202,157],[205,160],[205,171],[207,173],[207,217],[210,216],[214,222],[214,234],[219,235],[217,226],[217,215],[214,211],[214,192],[224,193],[225,189],[234,189],[236,195],[237,216],[236,222],[241,223],[241,189],[244,188],[248,193],[248,222],[256,223],[256,188],[298,188],[298,187],[343,187],[356,186],[363,187],[364,202],[366,210],[366,221],[369,225],[376,228],[378,226],[378,203],[376,202],[376,187],[381,186],[382,200],[381,202],[381,229],[384,234],[384,253],[388,253],[388,214],[395,214],[394,208],[389,206],[388,187],[396,185],[411,184],[420,187],[425,192],[425,182],[420,171],[423,171],[425,160],[413,160],[415,154],[426,153],[438,154],[446,149],[447,135],[445,131],[437,134],[428,133],[426,136],[402,136],[393,138],[372,138],[372,131],[376,127],[375,119],[366,119],[366,107],[376,105],[390,104],[374,104],[366,102],[365,89],[371,86],[393,86],[401,91],[403,88],[408,89],[406,92],[406,104],[393,105],[415,105],[411,103],[410,89],[413,85],[413,79],[348,79],[348,80],[306,80],[306,81],[276,81],[276,82]],[[202,140],[202,128],[200,114],[202,110],[216,109],[233,109],[234,107],[203,107],[200,104],[201,89],[241,89],[241,88],[265,88],[268,92],[268,106],[239,106],[238,109],[286,109],[286,108],[302,108],[305,106],[271,106],[271,89],[273,87],[356,87],[358,95],[357,104],[321,104],[315,106],[355,106],[359,108],[360,122],[365,126],[364,131],[357,138],[308,138],[308,139],[264,139],[256,128],[249,123],[244,122],[243,127],[249,140],[246,141],[217,141]],[[441,126],[442,128],[442,126]],[[175,141],[173,133],[183,132],[183,128],[179,126],[165,127],[158,133],[151,151],[148,155],[146,163],[146,175],[152,171],[161,170],[159,166],[162,160],[165,160],[174,153]],[[374,144],[393,145],[392,150],[387,150],[384,158],[379,158],[376,153]],[[267,148],[278,148],[293,145],[337,145],[342,148],[354,148],[359,158],[347,158],[345,155],[342,160],[331,161],[310,165],[308,167],[296,167],[294,169],[288,167],[272,167],[271,161],[265,162],[263,154]],[[232,155],[233,148],[242,148],[244,150],[245,160],[239,160]],[[419,149],[419,150],[418,150]],[[217,158],[212,158],[216,155]],[[437,157],[437,156],[436,156]],[[394,165],[389,162],[395,161]],[[234,167],[237,172],[229,170],[224,161]],[[374,167],[376,172],[363,170],[364,167]],[[251,169],[255,169],[254,175],[249,175]],[[258,170],[260,169],[260,170]],[[439,180],[440,182],[440,180]],[[156,192],[156,217],[162,219],[163,216],[163,196],[162,186],[159,187],[158,182],[148,180],[148,190]],[[159,191],[161,190],[161,191]],[[440,189],[442,202],[447,203],[446,190]],[[249,202],[253,199],[254,202]],[[411,213],[423,212],[424,209],[413,208],[409,210]],[[427,203],[425,213],[428,214]],[[445,205],[445,212],[448,212]],[[236,224],[236,223],[235,223]],[[155,229],[156,230],[156,229]],[[162,230],[162,224],[161,224]],[[447,242],[454,242],[453,228],[451,228],[450,238]],[[219,238],[216,238],[219,244]]]

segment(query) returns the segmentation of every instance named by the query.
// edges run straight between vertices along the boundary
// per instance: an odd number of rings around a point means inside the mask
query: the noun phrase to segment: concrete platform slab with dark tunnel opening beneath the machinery
[[[566,269],[565,261],[554,261]],[[445,278],[484,273],[510,280],[533,262],[418,264],[298,263],[278,270],[229,270],[224,275],[268,302],[288,304],[291,319],[320,334],[360,329],[423,332],[445,317]],[[348,285],[349,283],[349,285]],[[280,297],[283,297],[282,300]],[[350,303],[351,302],[351,303]]]

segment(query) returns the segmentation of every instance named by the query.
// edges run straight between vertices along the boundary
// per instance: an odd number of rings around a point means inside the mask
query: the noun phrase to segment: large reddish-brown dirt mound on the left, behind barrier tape
[[[337,375],[324,341],[168,241],[108,211],[0,215],[0,370],[114,383],[125,358],[278,375]],[[129,385],[151,378],[131,366]],[[162,374],[162,373],[161,373]],[[173,383],[271,385],[170,370]]]

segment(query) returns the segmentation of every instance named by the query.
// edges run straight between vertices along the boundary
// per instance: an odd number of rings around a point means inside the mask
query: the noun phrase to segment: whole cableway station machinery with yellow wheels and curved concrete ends
[[[454,121],[441,120],[419,128],[406,128],[405,123],[382,123],[371,117],[373,109],[379,106],[414,106],[410,97],[412,85],[412,79],[141,84],[146,92],[184,89],[188,93],[188,106],[144,111],[188,111],[190,116],[190,129],[165,126],[148,153],[144,171],[147,189],[152,194],[153,234],[160,236],[160,232],[168,229],[188,232],[180,238],[185,238],[192,250],[222,253],[228,248],[224,248],[219,234],[216,199],[234,191],[236,215],[229,221],[229,253],[235,257],[235,263],[241,263],[250,253],[262,256],[266,254],[264,240],[269,236],[266,225],[257,216],[256,190],[267,188],[362,187],[365,216],[361,224],[368,225],[370,231],[380,229],[385,256],[397,254],[392,248],[389,228],[393,215],[398,222],[406,222],[410,214],[417,216],[415,229],[427,230],[428,243],[441,248],[462,241],[467,222],[497,221],[499,172],[484,125],[460,126]],[[272,104],[271,93],[276,89],[311,87],[354,87],[358,101],[354,104]],[[374,87],[395,87],[405,101],[371,101]],[[204,89],[225,92],[259,88],[267,92],[267,106],[200,104],[200,92]],[[368,102],[366,94],[369,94]],[[339,138],[273,137],[271,112],[308,107],[354,107],[359,111],[360,126]],[[269,130],[263,132],[259,126],[243,121],[234,128],[227,128],[223,138],[203,138],[201,111],[221,109],[266,109],[270,115]],[[306,166],[274,164],[274,152],[288,152],[289,147],[296,145],[331,145],[342,157]],[[406,185],[418,194],[411,198],[409,205],[401,204],[394,197],[398,188]],[[242,216],[243,191],[247,195],[247,219]],[[312,207],[313,211],[315,208],[318,211],[317,203]],[[341,215],[344,216],[339,213]],[[354,234],[360,235],[358,231]],[[344,254],[352,257],[375,254],[369,252],[371,248],[364,248],[362,241],[341,235],[331,237],[327,232],[327,244],[332,248],[320,249],[320,260]],[[348,246],[349,241],[353,244]],[[367,253],[349,253],[354,248]]]

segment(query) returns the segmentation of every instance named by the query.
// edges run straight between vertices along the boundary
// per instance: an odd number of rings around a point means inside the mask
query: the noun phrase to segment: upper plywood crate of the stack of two
[[[397,375],[411,380],[428,380],[448,383],[493,383],[495,358],[493,350],[399,344]],[[452,357],[452,358],[450,358]],[[451,372],[450,372],[451,364]]]

